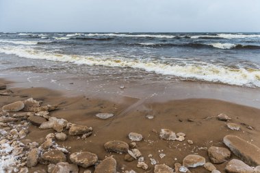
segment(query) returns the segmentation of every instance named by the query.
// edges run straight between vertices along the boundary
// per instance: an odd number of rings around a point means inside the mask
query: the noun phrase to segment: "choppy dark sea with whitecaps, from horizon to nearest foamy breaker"
[[[80,64],[79,73],[103,66],[107,75],[129,70],[133,77],[260,87],[259,33],[0,33],[1,62],[10,55],[16,64]]]

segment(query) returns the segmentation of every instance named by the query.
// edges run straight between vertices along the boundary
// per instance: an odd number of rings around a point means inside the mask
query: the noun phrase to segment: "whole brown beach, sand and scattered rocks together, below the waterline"
[[[153,114],[118,116],[126,105],[0,83],[0,172],[259,173],[260,110],[229,104],[147,103]]]

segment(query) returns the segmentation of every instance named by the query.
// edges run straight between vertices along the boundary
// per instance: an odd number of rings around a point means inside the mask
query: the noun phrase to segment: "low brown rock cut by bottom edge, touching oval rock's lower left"
[[[78,173],[79,168],[75,164],[60,162],[55,165],[51,173]]]

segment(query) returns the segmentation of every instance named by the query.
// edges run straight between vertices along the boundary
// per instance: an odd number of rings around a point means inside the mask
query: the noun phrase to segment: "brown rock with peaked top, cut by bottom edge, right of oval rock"
[[[107,157],[96,166],[94,173],[116,173],[116,160],[113,157]]]

